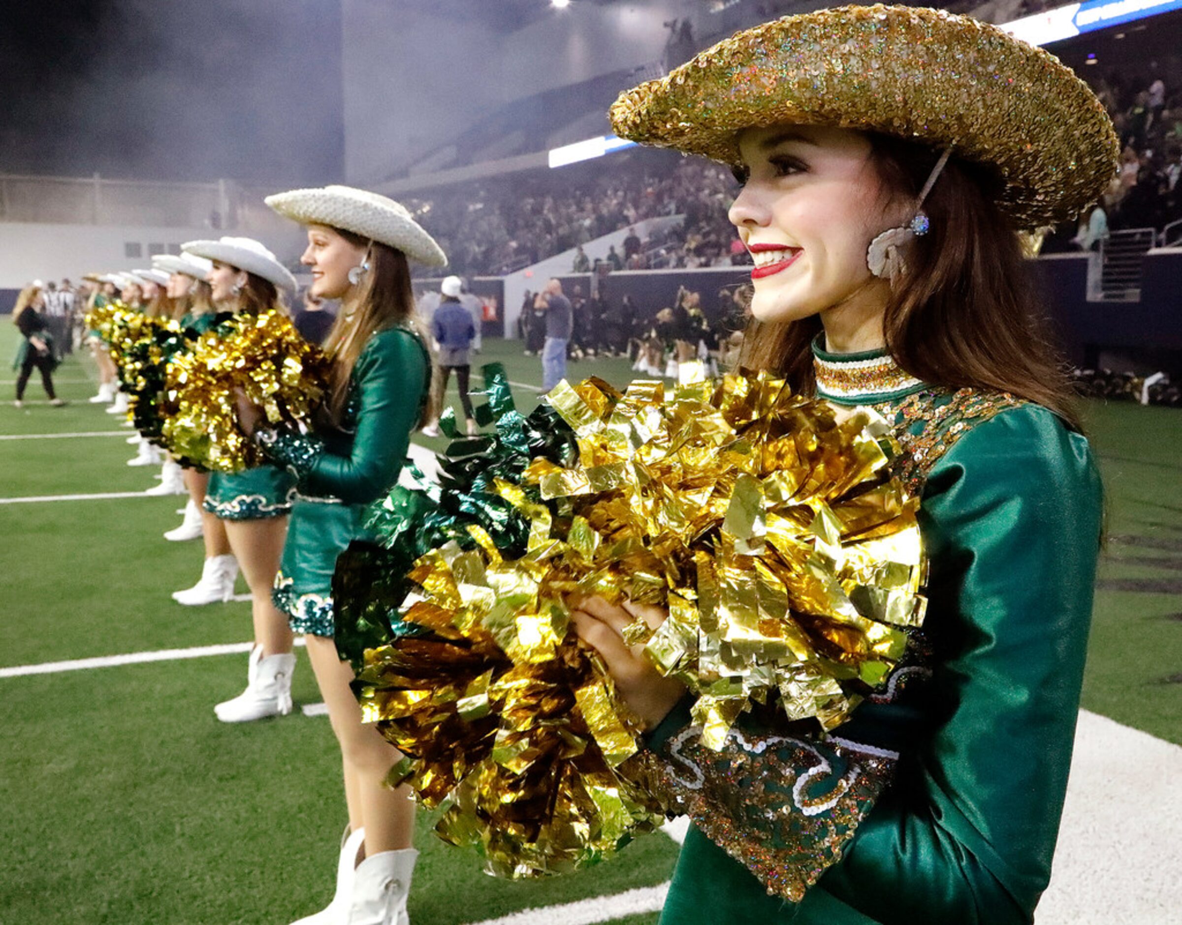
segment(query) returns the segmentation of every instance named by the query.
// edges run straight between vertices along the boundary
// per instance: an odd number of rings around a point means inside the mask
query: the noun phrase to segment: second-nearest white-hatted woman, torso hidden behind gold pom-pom
[[[296,291],[296,279],[287,269],[252,238],[189,241],[182,251],[212,263],[210,296],[221,310],[248,316],[282,311],[279,291]],[[209,477],[203,509],[225,526],[232,555],[206,558],[201,582],[194,589],[199,593],[193,596],[200,599],[203,590],[206,597],[220,594],[229,600],[241,568],[251,588],[254,623],[246,690],[214,707],[223,723],[285,716],[292,710],[293,638],[287,617],[271,602],[271,583],[279,570],[294,498],[296,480],[275,466]]]

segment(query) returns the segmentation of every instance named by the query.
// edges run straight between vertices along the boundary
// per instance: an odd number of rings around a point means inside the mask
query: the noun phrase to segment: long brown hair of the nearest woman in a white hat
[[[352,232],[342,228],[333,231],[355,247],[368,248],[365,260],[369,263],[365,276],[342,300],[340,311],[324,343],[324,349],[332,357],[326,410],[333,422],[339,422],[349,397],[349,377],[374,334],[396,324],[411,328],[427,349],[430,367],[434,367],[434,358],[430,339],[415,311],[415,292],[410,284],[407,255]],[[433,379],[428,379],[424,386],[427,395],[416,427],[435,419],[436,399],[429,384]]]

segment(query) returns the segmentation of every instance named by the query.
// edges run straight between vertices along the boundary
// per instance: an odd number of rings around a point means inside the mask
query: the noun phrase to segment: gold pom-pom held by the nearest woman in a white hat
[[[324,395],[327,360],[278,311],[240,315],[168,364],[162,440],[178,460],[219,472],[262,461],[238,423],[236,393],[269,423],[306,421]]]

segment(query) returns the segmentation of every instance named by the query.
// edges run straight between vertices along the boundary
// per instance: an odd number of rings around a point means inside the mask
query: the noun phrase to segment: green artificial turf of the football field
[[[14,328],[0,323],[0,356],[14,343]],[[540,384],[540,362],[519,345],[486,341],[482,358],[505,362],[517,383]],[[619,360],[572,363],[569,373],[616,384],[631,377]],[[4,375],[0,395],[11,397],[12,374]],[[200,542],[161,537],[180,522],[182,498],[7,503],[155,484],[156,470],[124,465],[132,449],[121,438],[130,431],[85,402],[92,377],[89,360],[67,360],[57,374],[67,407],[45,405],[35,379],[24,409],[0,405],[0,670],[249,639],[245,601],[187,608],[169,597],[201,567]],[[537,401],[526,387],[515,389],[522,409]],[[1182,415],[1090,402],[1086,416],[1110,536],[1084,706],[1182,744]],[[329,724],[298,709],[319,699],[299,659],[296,713],[243,725],[217,723],[212,707],[241,690],[245,655],[0,672],[0,924],[269,924],[320,908],[332,892],[344,803]],[[415,925],[479,923],[657,886],[677,852],[658,834],[579,874],[506,882],[429,829],[423,814]],[[573,920],[564,914],[548,921]],[[639,925],[656,914],[579,921],[609,919]]]

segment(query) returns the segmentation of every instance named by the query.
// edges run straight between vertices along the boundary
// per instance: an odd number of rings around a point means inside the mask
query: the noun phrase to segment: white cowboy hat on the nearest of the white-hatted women
[[[300,225],[327,225],[330,228],[402,251],[427,266],[447,266],[447,255],[415,221],[407,207],[392,199],[349,186],[292,189],[264,200],[280,215]]]

